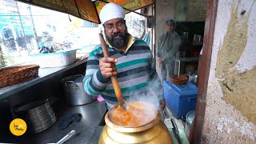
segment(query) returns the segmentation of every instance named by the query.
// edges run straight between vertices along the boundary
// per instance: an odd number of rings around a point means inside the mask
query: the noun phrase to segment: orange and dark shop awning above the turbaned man
[[[72,14],[75,17],[82,18],[86,21],[100,23],[98,13],[102,6],[107,2],[114,2],[126,9],[126,13],[130,10],[138,10],[142,7],[150,6],[153,0],[16,0],[18,2],[29,3],[34,6],[44,7],[50,10],[60,11],[66,14]]]

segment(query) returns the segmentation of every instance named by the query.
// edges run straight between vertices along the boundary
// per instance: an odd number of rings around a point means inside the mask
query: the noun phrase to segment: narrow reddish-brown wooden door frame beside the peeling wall
[[[192,139],[191,143],[200,143],[202,136],[202,126],[206,111],[206,92],[210,74],[210,60],[212,54],[212,47],[214,43],[214,27],[217,16],[218,0],[208,0],[207,12],[206,12],[206,24],[205,33],[203,38],[203,50],[201,69],[199,70],[199,82],[198,82],[198,98],[197,106],[194,117],[194,126],[192,126]]]

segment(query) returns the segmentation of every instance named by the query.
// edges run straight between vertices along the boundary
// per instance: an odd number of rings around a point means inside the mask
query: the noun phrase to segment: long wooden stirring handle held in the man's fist
[[[104,56],[105,57],[110,57],[110,53],[106,48],[105,39],[103,38],[103,35],[101,33],[99,34],[99,38],[100,38],[100,41],[101,41],[102,51],[103,51]],[[120,104],[123,104],[124,101],[123,101],[123,98],[122,98],[122,91],[120,89],[117,76],[112,76],[111,77],[111,82],[113,83],[114,93],[116,94],[116,96],[118,98],[118,102]]]

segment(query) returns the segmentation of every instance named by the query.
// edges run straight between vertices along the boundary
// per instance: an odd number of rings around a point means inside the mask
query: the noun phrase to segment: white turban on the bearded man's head
[[[107,3],[102,7],[102,10],[99,14],[99,18],[102,23],[114,18],[125,18],[125,11],[122,9],[122,6],[118,6],[115,3]]]

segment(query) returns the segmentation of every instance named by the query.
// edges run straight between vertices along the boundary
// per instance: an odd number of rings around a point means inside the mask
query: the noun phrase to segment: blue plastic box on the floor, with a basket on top
[[[182,118],[189,111],[195,110],[198,87],[193,83],[186,82],[184,85],[175,85],[170,81],[164,81],[162,86],[166,105],[176,118]]]

